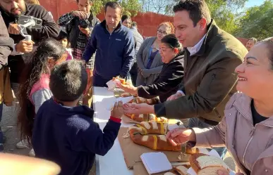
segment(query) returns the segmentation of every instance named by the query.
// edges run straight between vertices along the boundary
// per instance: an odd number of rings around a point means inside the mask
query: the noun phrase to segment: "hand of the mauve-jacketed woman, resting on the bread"
[[[181,145],[188,141],[196,141],[195,132],[192,129],[176,128],[168,132],[166,138],[171,145]]]

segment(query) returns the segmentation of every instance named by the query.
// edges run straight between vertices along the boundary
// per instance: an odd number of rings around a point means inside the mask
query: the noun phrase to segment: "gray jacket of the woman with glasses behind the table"
[[[159,53],[157,53],[157,55],[154,57],[150,69],[146,69],[150,57],[150,47],[154,43],[155,39],[156,37],[149,37],[145,39],[138,50],[136,56],[138,63],[137,86],[152,84],[162,70],[163,62]],[[141,74],[140,70],[143,71],[143,74]]]

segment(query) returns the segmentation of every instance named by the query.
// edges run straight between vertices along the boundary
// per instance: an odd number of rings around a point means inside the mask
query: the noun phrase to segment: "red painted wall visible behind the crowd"
[[[58,20],[58,18],[64,13],[68,13],[70,11],[75,11],[78,9],[77,3],[75,0],[42,0],[40,4],[50,11],[54,16],[54,20]],[[100,13],[97,15],[99,20],[104,20],[104,13]],[[157,13],[138,13],[133,21],[138,23],[138,31],[142,36],[152,37],[157,33],[157,27],[161,22],[173,22],[173,18],[167,15],[160,15]],[[246,44],[247,39],[237,38],[244,45]]]

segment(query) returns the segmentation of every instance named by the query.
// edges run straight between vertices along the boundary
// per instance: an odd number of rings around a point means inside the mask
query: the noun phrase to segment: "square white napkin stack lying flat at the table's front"
[[[147,172],[149,174],[159,173],[170,170],[171,163],[164,153],[143,153],[140,155]]]

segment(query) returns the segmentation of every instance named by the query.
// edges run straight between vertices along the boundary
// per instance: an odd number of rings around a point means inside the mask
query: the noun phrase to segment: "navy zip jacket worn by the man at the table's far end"
[[[95,75],[104,79],[111,79],[118,75],[125,78],[133,64],[134,45],[133,32],[119,23],[110,34],[104,20],[99,25],[95,25],[83,53],[83,59],[87,63],[96,51]]]

